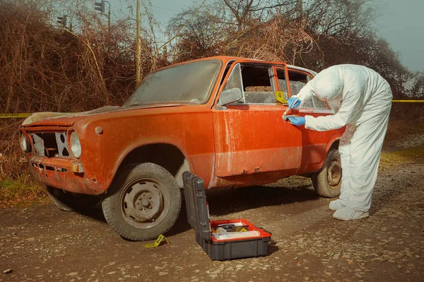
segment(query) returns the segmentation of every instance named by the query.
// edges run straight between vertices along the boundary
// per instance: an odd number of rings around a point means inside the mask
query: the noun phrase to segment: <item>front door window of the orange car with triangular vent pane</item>
[[[223,91],[235,87],[242,89],[243,97],[233,104],[276,104],[273,73],[269,66],[237,63]]]

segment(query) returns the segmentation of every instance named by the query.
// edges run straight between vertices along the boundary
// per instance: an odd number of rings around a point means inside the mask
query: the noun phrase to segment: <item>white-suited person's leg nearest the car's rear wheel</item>
[[[340,197],[338,200],[331,201],[329,208],[336,211],[342,207],[346,207],[346,202],[349,195],[349,183],[351,181],[351,173],[349,172],[349,162],[351,161],[351,138],[355,133],[355,125],[346,125],[346,130],[340,138],[338,144],[338,152],[340,152],[340,163],[341,163],[341,187]]]

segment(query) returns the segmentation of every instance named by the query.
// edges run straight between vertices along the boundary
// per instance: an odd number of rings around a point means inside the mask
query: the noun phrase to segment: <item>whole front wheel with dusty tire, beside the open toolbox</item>
[[[102,202],[107,223],[133,241],[152,240],[170,230],[181,209],[181,192],[172,174],[151,163],[120,171]]]

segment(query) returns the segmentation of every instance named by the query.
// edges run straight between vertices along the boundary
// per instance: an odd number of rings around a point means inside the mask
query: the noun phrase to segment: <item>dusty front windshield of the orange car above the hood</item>
[[[185,63],[151,73],[123,106],[162,102],[204,103],[219,68],[220,61],[209,60]]]

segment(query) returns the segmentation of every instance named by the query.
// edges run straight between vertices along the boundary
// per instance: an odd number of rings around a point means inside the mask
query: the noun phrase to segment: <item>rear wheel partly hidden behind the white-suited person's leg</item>
[[[334,198],[340,195],[341,163],[338,149],[330,149],[324,166],[312,175],[312,184],[321,197]]]

